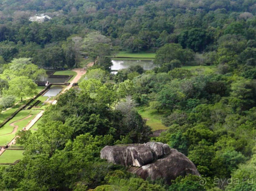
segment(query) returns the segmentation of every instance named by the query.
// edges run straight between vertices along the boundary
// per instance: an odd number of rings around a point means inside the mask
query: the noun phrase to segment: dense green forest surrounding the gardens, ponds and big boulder
[[[18,133],[24,158],[0,167],[0,190],[256,190],[250,183],[256,181],[255,1],[0,3],[3,109],[16,97],[36,93],[34,82],[46,75],[42,68],[95,62],[79,90],[70,89],[46,109],[38,131]],[[38,13],[52,19],[28,20]],[[146,71],[135,65],[113,75],[111,58],[119,51],[156,53],[156,67]],[[197,63],[198,55],[216,70],[181,68]],[[18,92],[19,83],[33,91]],[[167,130],[152,137],[139,109],[154,110]],[[207,184],[192,175],[169,184],[143,180],[100,159],[106,145],[150,139],[185,154]],[[216,177],[245,183],[216,184]]]

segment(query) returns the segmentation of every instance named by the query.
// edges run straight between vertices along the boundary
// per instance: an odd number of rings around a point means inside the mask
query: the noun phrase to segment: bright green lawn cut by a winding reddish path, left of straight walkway
[[[32,115],[27,119],[24,119],[20,122],[16,122],[14,125],[18,125],[19,128],[17,131],[21,130],[23,127],[25,127],[41,110],[21,110],[15,117],[13,117],[9,122],[7,122],[3,127],[0,128],[0,146],[4,146],[7,144],[7,142],[10,142],[14,137],[14,134],[9,134],[13,131],[12,126],[10,126],[10,123],[13,123],[15,121],[18,121],[20,119],[25,118],[26,116]]]

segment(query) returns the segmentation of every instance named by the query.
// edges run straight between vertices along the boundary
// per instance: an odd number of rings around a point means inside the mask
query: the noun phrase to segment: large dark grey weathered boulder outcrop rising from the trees
[[[160,142],[105,146],[101,158],[128,167],[128,171],[146,179],[164,178],[167,183],[178,176],[198,175],[195,165],[181,152]]]

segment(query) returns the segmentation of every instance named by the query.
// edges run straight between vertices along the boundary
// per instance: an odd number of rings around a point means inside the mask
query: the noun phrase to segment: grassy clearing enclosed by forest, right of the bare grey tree
[[[145,108],[138,108],[138,113],[142,116],[143,119],[146,119],[146,124],[152,128],[152,131],[160,130],[160,129],[167,129],[161,122],[161,117],[165,115],[163,111],[158,113],[157,110]]]

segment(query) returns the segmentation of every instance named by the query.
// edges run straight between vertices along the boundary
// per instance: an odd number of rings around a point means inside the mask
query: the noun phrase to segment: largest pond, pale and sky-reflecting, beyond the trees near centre
[[[111,70],[120,70],[129,66],[140,65],[145,70],[151,70],[155,67],[153,60],[112,60]]]

